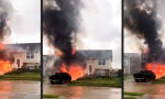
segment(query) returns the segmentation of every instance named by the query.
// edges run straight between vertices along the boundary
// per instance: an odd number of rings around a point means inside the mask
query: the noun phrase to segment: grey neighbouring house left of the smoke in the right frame
[[[123,59],[124,74],[134,74],[142,69],[141,54],[139,53],[124,53]]]

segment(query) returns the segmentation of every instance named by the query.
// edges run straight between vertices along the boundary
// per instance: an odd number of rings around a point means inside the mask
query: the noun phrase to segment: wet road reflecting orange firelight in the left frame
[[[0,80],[0,99],[41,99],[40,81]]]

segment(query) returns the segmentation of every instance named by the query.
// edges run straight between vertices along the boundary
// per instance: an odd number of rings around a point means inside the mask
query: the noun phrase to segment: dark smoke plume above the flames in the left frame
[[[1,43],[11,32],[8,26],[8,20],[11,12],[12,6],[9,0],[0,0],[0,59],[13,62],[12,54],[9,53]]]

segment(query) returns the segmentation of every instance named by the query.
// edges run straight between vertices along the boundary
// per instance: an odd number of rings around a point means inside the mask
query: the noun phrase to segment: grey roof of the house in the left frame
[[[41,43],[18,43],[18,44],[6,44],[6,47],[11,52],[38,52],[41,51]]]

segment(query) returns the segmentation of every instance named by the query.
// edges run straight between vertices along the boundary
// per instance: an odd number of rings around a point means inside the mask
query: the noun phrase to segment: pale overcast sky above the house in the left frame
[[[6,43],[41,42],[41,0],[10,0],[13,13],[9,19],[11,35]]]

